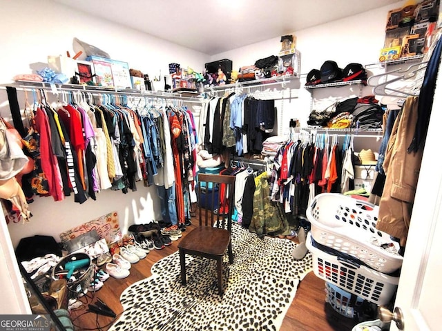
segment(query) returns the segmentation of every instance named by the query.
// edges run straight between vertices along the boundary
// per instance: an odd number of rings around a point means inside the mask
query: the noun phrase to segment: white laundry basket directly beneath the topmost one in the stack
[[[384,305],[392,299],[399,277],[383,274],[365,265],[342,261],[339,257],[319,250],[314,246],[310,232],[305,244],[311,252],[316,277],[377,305]]]

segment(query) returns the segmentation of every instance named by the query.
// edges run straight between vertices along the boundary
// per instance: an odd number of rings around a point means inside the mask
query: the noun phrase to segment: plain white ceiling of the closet
[[[53,0],[213,55],[401,0]],[[369,18],[367,18],[369,23]]]

